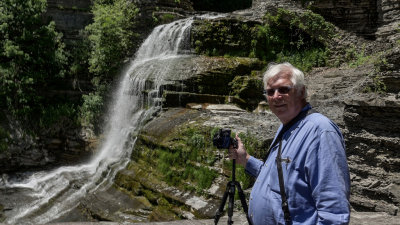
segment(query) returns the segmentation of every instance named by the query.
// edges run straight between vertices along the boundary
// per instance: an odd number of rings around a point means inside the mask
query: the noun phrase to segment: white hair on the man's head
[[[304,91],[302,97],[304,99],[306,99],[307,98],[307,90],[305,88],[304,73],[288,62],[279,63],[279,64],[270,63],[268,65],[268,69],[267,69],[267,71],[265,71],[264,77],[263,77],[264,87],[267,88],[269,79],[271,79],[272,77],[275,77],[282,71],[289,71],[290,81],[293,83],[293,86],[296,88],[298,94],[301,94],[302,90],[304,88],[305,91]]]

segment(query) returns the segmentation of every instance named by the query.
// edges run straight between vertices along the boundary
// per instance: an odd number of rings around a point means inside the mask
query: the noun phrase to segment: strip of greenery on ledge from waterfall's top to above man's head
[[[327,64],[334,34],[334,26],[318,14],[278,9],[274,15],[266,14],[263,24],[235,19],[197,21],[192,45],[200,54],[290,61],[309,71]]]

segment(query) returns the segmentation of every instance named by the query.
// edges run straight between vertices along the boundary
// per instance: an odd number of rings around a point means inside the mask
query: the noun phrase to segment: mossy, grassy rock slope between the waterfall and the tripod
[[[179,125],[171,122],[175,124],[172,130],[164,130],[164,126],[169,125],[163,122],[160,130],[168,132],[158,131],[161,136],[151,132],[153,126],[144,131],[132,152],[132,161],[117,174],[115,185],[132,196],[145,197],[151,202],[152,208],[164,208],[176,218],[182,218],[177,208],[187,208],[184,207],[185,197],[178,197],[173,193],[186,192],[191,194],[185,196],[218,198],[220,192],[224,191],[223,186],[227,180],[231,179],[232,161],[228,160],[226,149],[217,149],[212,145],[212,138],[220,128],[205,126],[203,122],[206,119],[193,114],[195,115],[190,122],[182,122]],[[235,133],[232,133],[232,137],[234,135]],[[265,153],[262,151],[264,143],[249,133],[241,133],[240,137],[249,152],[262,158],[262,154]],[[254,182],[241,165],[237,165],[236,180],[244,190]],[[215,187],[221,190],[214,193],[211,189]],[[170,188],[174,191],[168,191]],[[208,213],[201,210],[192,212],[198,218],[208,217]],[[157,220],[157,217],[148,218]]]

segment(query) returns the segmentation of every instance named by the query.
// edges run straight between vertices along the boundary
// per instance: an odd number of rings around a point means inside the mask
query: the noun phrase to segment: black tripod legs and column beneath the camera
[[[244,210],[244,213],[246,214],[247,221],[249,222],[249,225],[253,225],[251,222],[251,219],[249,218],[248,215],[248,208],[247,208],[247,203],[246,203],[246,197],[243,193],[242,187],[240,186],[240,183],[235,180],[235,170],[236,170],[236,160],[233,159],[232,163],[232,180],[228,182],[226,186],[226,190],[224,193],[224,196],[222,197],[222,202],[219,206],[218,211],[215,213],[214,217],[214,223],[215,225],[218,224],[219,218],[222,215],[222,212],[224,211],[224,206],[226,203],[227,198],[229,197],[229,203],[228,203],[228,225],[232,225],[232,216],[233,216],[233,205],[234,205],[234,199],[235,199],[235,188],[237,187],[238,189],[238,194],[240,198],[240,202],[242,203],[242,207]]]

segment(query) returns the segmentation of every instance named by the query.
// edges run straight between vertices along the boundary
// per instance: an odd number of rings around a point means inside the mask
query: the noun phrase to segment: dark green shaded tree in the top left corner
[[[44,91],[64,76],[67,60],[45,10],[45,0],[0,1],[0,105],[30,123],[42,116]]]

